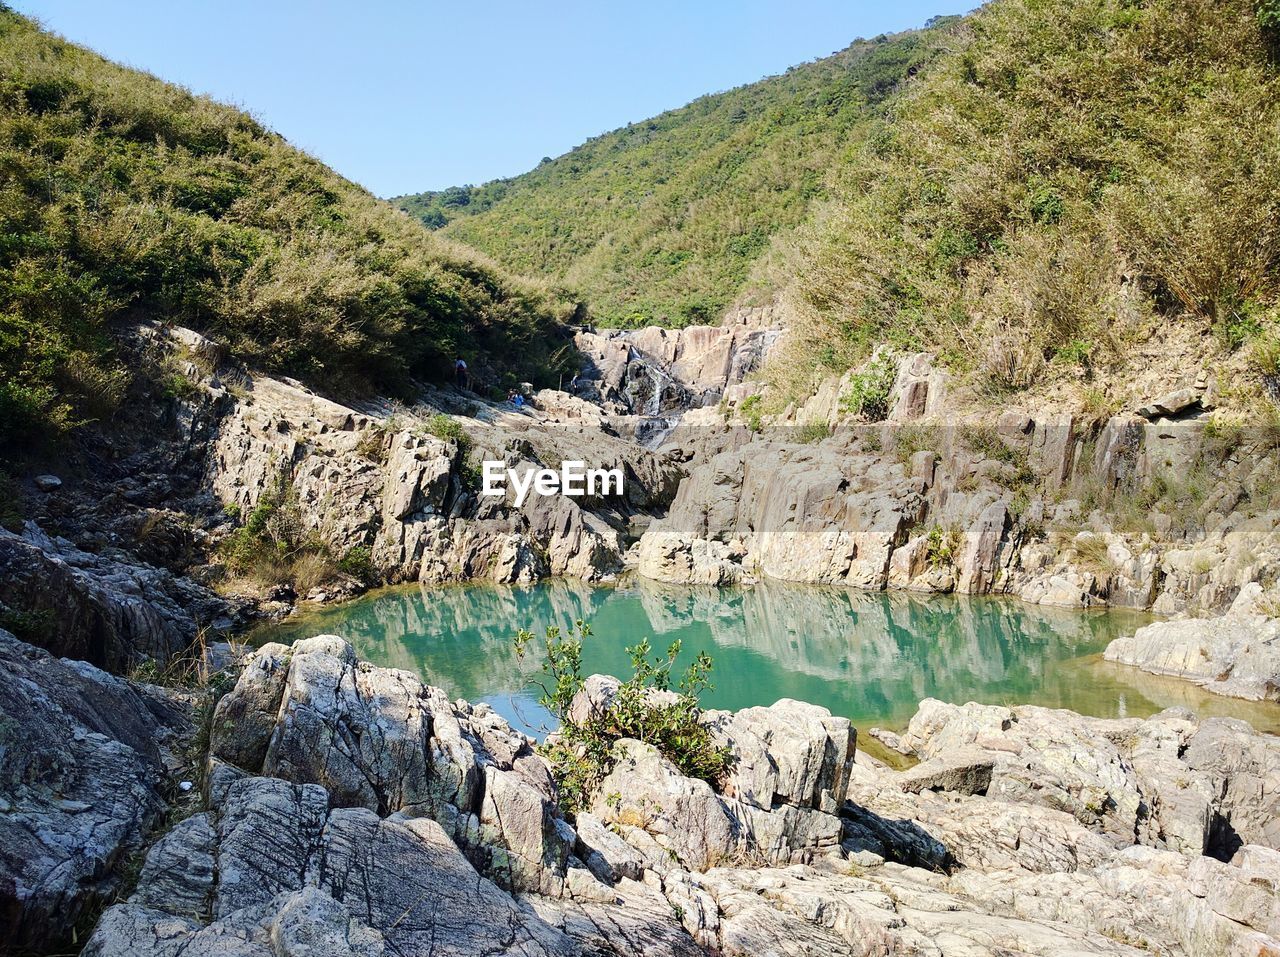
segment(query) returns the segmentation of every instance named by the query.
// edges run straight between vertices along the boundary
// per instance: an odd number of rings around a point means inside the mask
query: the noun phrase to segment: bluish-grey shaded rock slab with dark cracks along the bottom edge
[[[151,850],[137,893],[102,915],[84,953],[579,952],[477,875],[436,821],[332,803],[316,784],[237,780]]]

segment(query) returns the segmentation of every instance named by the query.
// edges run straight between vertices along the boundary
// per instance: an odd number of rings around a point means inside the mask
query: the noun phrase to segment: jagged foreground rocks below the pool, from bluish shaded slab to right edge
[[[607,708],[608,681],[589,686]],[[1239,722],[925,701],[881,734],[919,759],[895,771],[800,702],[703,720],[736,757],[726,780],[622,741],[571,821],[485,708],[339,638],[266,646],[215,715],[207,810],[151,848],[84,952],[1280,947],[1276,739]]]

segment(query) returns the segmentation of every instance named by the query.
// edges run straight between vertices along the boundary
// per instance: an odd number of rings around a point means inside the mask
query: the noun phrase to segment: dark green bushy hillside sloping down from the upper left
[[[0,444],[111,415],[137,375],[111,333],[136,319],[330,391],[396,391],[456,352],[553,374],[544,290],[252,116],[3,5],[0,170]]]

